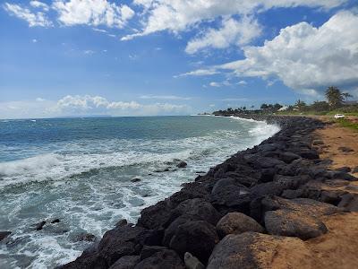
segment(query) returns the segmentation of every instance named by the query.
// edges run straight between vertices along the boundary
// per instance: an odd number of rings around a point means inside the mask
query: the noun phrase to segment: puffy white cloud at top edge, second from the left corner
[[[59,13],[59,22],[69,26],[87,24],[123,28],[134,15],[128,5],[107,0],[56,0],[52,6]]]

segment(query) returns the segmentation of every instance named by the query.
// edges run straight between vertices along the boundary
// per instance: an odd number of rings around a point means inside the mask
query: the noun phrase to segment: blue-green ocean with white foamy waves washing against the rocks
[[[0,120],[0,230],[13,232],[0,243],[0,268],[68,263],[91,244],[80,233],[100,238],[121,219],[135,223],[143,208],[278,130],[208,116]]]

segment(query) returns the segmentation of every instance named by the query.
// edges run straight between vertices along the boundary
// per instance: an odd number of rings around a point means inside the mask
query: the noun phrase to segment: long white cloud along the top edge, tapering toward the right
[[[143,29],[124,39],[161,30],[178,33],[219,17],[250,15],[277,7],[310,6],[332,8],[347,0],[134,0],[143,8]]]

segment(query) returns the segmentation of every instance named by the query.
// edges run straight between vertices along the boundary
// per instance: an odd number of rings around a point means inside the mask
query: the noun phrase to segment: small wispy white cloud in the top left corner
[[[21,20],[28,22],[30,27],[50,27],[53,25],[52,22],[48,21],[45,13],[32,13],[30,9],[21,7],[21,5],[19,4],[5,3],[4,10],[9,14],[18,17]]]

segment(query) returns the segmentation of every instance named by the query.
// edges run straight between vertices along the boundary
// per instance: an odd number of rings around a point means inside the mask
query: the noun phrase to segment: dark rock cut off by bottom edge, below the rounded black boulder
[[[149,256],[134,267],[135,269],[185,269],[181,258],[173,250],[162,250]]]

